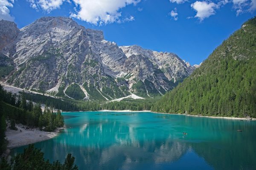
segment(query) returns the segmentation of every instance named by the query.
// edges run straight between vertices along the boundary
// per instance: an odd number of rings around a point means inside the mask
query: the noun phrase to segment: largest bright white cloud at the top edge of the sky
[[[70,17],[76,17],[88,23],[107,24],[118,22],[121,17],[119,9],[140,2],[140,0],[73,0],[79,8],[77,13]]]

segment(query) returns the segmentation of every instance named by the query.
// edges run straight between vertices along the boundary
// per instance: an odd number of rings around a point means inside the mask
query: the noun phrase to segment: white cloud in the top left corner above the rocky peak
[[[0,20],[13,21],[14,17],[10,15],[9,8],[13,7],[14,0],[0,0]]]

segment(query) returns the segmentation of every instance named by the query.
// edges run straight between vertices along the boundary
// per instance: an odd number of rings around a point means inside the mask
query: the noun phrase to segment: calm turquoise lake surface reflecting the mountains
[[[80,170],[256,170],[256,121],[151,112],[62,114],[67,128],[35,147],[62,163],[72,153]]]

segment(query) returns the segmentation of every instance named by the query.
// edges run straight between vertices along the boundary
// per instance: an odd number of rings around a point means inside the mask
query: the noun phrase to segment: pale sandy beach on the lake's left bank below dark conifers
[[[63,129],[57,128],[55,132],[44,132],[38,128],[26,130],[26,127],[22,124],[16,124],[16,127],[18,130],[10,130],[9,127],[6,128],[6,139],[9,142],[7,146],[8,149],[53,138]]]

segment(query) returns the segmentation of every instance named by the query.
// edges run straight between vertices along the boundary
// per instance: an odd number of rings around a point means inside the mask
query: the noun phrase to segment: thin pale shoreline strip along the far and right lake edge
[[[231,119],[231,120],[244,120],[244,121],[256,121],[256,118],[237,118],[237,117],[222,117],[222,116],[204,116],[204,115],[187,115],[180,113],[161,113],[161,112],[152,112],[151,110],[96,110],[96,111],[75,111],[75,112],[151,112],[155,114],[164,114],[164,115],[185,115],[191,117],[201,117],[201,118],[220,118],[220,119]],[[68,113],[68,112],[67,112]]]

